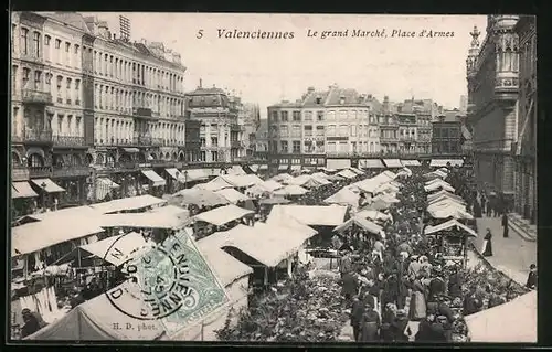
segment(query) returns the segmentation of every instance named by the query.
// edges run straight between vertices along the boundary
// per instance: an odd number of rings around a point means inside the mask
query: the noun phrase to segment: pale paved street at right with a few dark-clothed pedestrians
[[[500,217],[477,218],[479,236],[473,239],[477,250],[481,250],[487,228],[492,233],[492,257],[486,259],[498,270],[521,285],[526,285],[529,266],[537,264],[537,242],[528,242],[513,231],[502,237]]]

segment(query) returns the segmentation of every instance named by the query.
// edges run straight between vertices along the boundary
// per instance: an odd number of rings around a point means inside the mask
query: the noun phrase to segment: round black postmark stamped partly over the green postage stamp
[[[156,244],[136,233],[121,235],[107,248],[104,263],[113,264],[125,278],[105,295],[129,317],[167,318],[193,299],[184,245],[174,236]]]

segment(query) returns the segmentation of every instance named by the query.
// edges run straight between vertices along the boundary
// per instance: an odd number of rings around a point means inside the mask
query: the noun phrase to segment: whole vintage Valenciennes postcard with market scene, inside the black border
[[[534,17],[10,35],[11,343],[537,342]]]

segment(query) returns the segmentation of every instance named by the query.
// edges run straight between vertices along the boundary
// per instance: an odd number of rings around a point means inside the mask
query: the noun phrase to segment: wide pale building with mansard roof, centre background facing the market
[[[354,89],[309,87],[295,103],[268,107],[269,151],[277,154],[273,160],[284,169],[288,163],[323,164],[326,156],[378,153],[380,110],[374,97]]]

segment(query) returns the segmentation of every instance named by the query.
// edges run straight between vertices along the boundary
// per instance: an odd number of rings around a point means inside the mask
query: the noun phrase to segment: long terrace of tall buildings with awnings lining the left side
[[[178,53],[75,12],[13,12],[12,58],[13,174],[41,204],[95,200],[96,178],[125,194],[167,184],[156,171],[174,178],[166,168],[185,158]]]

